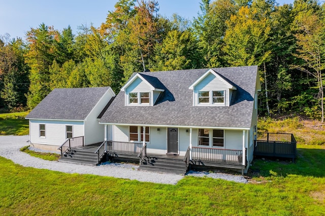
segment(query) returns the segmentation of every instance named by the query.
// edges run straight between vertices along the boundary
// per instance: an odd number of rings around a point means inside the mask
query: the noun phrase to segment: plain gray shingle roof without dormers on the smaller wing
[[[109,87],[54,89],[26,119],[84,120]]]

